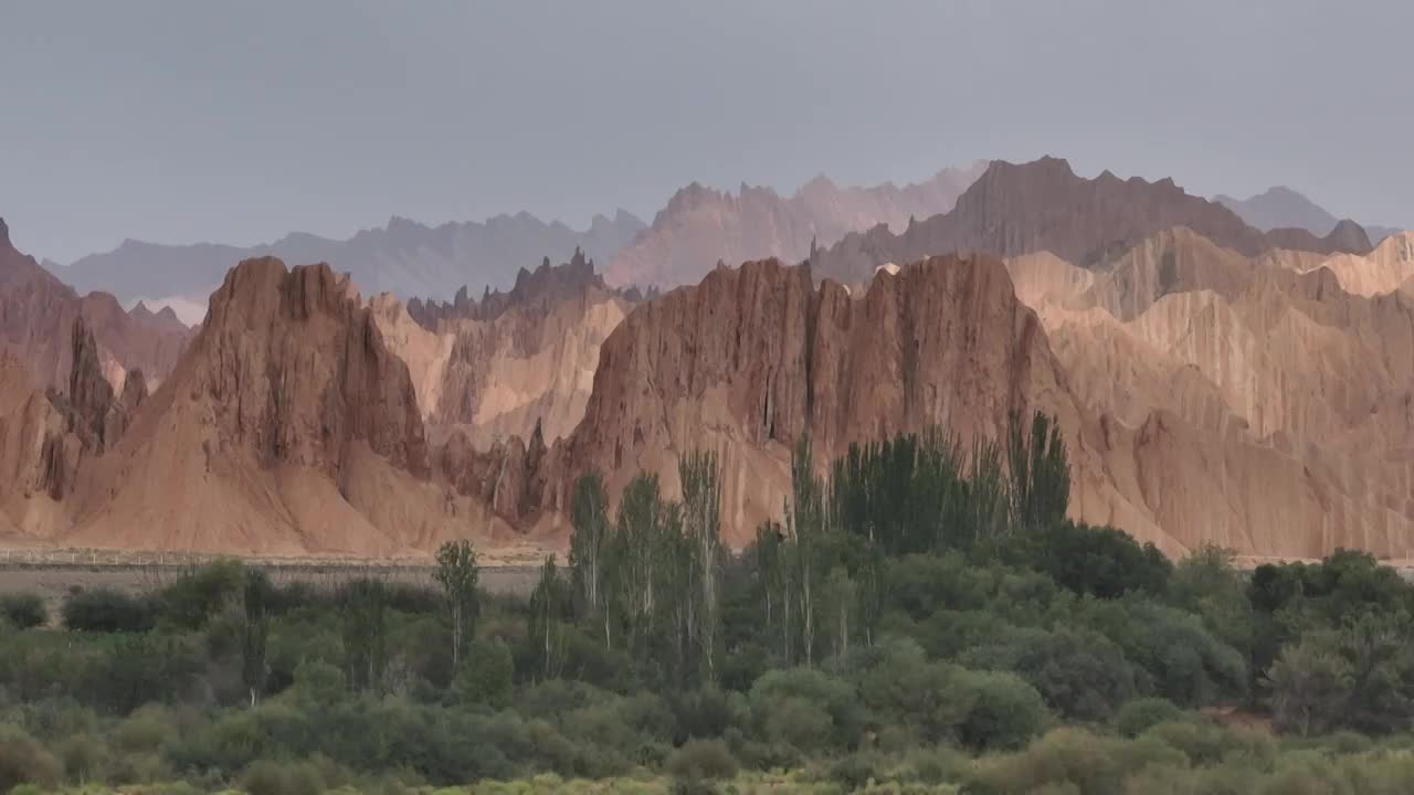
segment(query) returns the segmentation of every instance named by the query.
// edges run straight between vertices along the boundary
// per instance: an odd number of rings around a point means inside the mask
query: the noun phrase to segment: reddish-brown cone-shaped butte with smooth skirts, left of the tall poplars
[[[79,471],[64,543],[393,555],[481,523],[431,481],[407,366],[327,265],[240,263],[173,376]]]

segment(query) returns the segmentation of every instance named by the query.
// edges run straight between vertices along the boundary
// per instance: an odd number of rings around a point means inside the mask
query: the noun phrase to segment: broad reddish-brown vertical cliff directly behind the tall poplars
[[[751,262],[639,307],[609,335],[584,420],[547,455],[544,505],[563,506],[591,467],[611,491],[639,470],[674,491],[679,455],[717,450],[724,528],[740,545],[779,512],[802,434],[823,463],[850,441],[937,423],[994,437],[1031,407],[1077,422],[998,260],[939,257],[857,298],[816,289],[809,266]]]

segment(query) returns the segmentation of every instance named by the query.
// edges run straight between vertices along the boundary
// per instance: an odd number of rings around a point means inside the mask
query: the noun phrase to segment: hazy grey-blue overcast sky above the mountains
[[[0,215],[69,262],[976,158],[1414,225],[1414,3],[0,6]]]

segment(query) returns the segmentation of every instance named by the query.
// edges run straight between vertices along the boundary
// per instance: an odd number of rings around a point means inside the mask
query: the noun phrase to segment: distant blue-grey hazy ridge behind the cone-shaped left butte
[[[181,297],[204,307],[206,294],[221,284],[232,263],[276,256],[294,263],[332,263],[370,293],[450,298],[461,287],[472,293],[509,289],[525,263],[546,253],[578,248],[602,262],[643,228],[624,209],[614,218],[595,215],[583,231],[559,221],[546,224],[529,212],[440,226],[393,216],[387,225],[346,240],[305,232],[247,248],[124,240],[112,252],[52,270],[79,291],[106,290],[124,303]]]

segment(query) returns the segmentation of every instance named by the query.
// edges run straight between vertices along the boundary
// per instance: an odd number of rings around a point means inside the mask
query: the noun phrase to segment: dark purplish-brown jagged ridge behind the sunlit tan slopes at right
[[[867,280],[874,267],[888,262],[915,262],[960,250],[1007,257],[1046,250],[1082,267],[1094,267],[1175,226],[1246,256],[1292,246],[1316,246],[1315,250],[1324,252],[1335,245],[1308,233],[1268,240],[1226,207],[1189,195],[1172,180],[1120,180],[1109,171],[1086,180],[1065,160],[1044,157],[1021,166],[993,161],[959,197],[952,212],[919,221],[902,232],[874,228],[847,235],[819,252],[812,265],[817,276],[844,283]],[[1353,232],[1332,235],[1332,240],[1345,245]]]

